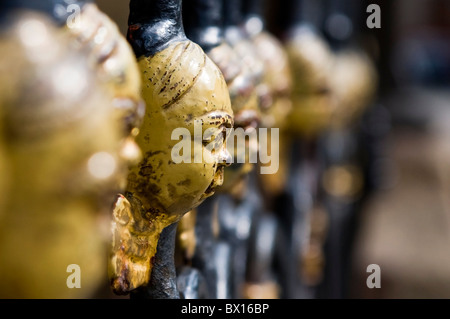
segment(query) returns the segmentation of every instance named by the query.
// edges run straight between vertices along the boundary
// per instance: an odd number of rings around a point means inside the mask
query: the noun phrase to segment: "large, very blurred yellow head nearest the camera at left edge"
[[[119,161],[113,96],[97,77],[89,48],[42,15],[16,16],[0,47],[11,177],[0,223],[0,297],[90,297],[106,277],[108,215],[102,212],[117,189],[115,174],[96,178],[88,162],[98,153]],[[81,289],[66,286],[73,263],[82,270]]]

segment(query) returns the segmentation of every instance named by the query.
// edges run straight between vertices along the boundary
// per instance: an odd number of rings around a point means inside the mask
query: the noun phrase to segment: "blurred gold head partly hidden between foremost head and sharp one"
[[[90,52],[90,62],[97,76],[106,85],[113,99],[115,120],[123,134],[118,166],[121,171],[117,184],[126,187],[128,165],[141,159],[139,147],[134,142],[141,125],[144,103],[141,98],[141,75],[135,55],[117,25],[97,5],[87,3],[82,7],[80,23],[65,30]]]

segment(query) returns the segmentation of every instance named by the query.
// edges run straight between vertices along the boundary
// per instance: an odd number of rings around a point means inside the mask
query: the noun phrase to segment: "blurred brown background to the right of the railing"
[[[346,296],[450,298],[450,1],[362,2],[381,8],[381,29],[359,27],[378,67],[376,125],[386,135],[376,190],[359,212]],[[125,34],[128,1],[97,3]],[[269,6],[274,34],[271,14],[282,5]],[[381,267],[380,289],[366,286],[369,264]]]

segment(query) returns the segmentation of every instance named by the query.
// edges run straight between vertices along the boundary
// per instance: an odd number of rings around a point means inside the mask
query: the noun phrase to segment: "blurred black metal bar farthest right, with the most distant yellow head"
[[[323,31],[326,38],[336,52],[357,48],[361,50],[360,36],[367,30],[365,25],[365,5],[363,1],[327,0],[326,19]],[[340,16],[348,19],[351,32],[345,37],[335,37],[333,25],[330,26],[331,17]],[[381,123],[380,127],[373,126],[371,121]],[[318,298],[346,298],[349,296],[349,282],[351,262],[355,237],[361,218],[361,206],[378,186],[374,179],[374,161],[383,156],[380,153],[380,144],[389,126],[389,119],[383,108],[371,105],[361,119],[359,125],[348,126],[341,130],[329,132],[322,141],[327,167],[333,165],[354,165],[363,172],[365,189],[359,198],[344,201],[340,198],[325,194],[323,201],[330,216],[330,228],[325,245],[327,259],[324,280],[318,287]],[[378,132],[377,132],[378,131]],[[381,151],[383,152],[383,151]],[[378,168],[379,169],[379,168]],[[380,176],[380,171],[376,173]]]

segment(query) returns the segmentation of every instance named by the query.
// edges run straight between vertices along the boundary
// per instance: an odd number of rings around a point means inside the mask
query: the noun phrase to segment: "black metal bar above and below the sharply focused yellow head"
[[[174,41],[186,39],[181,0],[131,0],[127,38],[135,55],[151,56]],[[151,279],[136,289],[131,298],[178,299],[174,261],[176,225],[161,233]]]

